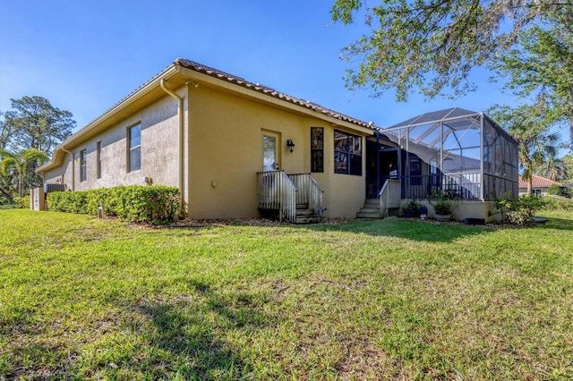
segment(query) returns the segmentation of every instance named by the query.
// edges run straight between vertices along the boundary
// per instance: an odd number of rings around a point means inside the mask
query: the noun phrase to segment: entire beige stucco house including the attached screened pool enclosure
[[[483,113],[452,108],[382,130],[177,59],[38,173],[67,190],[175,186],[192,219],[380,217],[441,191],[464,199],[454,218],[485,219],[492,195],[517,197],[517,143]]]

